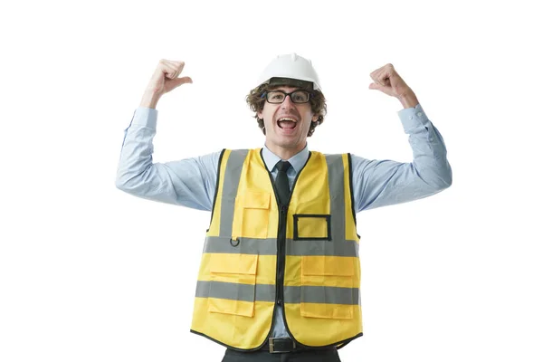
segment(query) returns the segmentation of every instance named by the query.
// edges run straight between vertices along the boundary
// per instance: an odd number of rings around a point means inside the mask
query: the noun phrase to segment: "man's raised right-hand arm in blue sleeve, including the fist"
[[[414,91],[392,64],[373,71],[369,89],[381,90],[404,106],[398,111],[413,162],[369,160],[352,155],[353,196],[356,212],[401,204],[437,194],[452,185],[452,169],[441,133],[424,113]]]

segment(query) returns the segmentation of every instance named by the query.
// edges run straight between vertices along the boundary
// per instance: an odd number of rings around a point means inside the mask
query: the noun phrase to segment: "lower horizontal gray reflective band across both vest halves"
[[[358,304],[357,288],[284,287],[285,303]],[[198,281],[196,297],[223,300],[275,301],[273,284],[241,284],[224,281]]]

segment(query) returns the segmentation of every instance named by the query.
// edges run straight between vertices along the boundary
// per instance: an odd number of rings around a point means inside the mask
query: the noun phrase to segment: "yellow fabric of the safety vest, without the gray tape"
[[[260,151],[260,148],[249,150],[243,161],[237,194],[234,200],[230,199],[233,202],[231,236],[240,243],[251,239],[257,247],[259,241],[270,247],[270,239],[278,237],[280,213],[271,175]],[[231,154],[230,150],[224,151],[213,218],[206,233],[208,237],[221,236],[225,240],[228,235],[219,232],[221,223],[230,222],[221,220],[221,212],[224,176]],[[347,243],[358,243],[351,206],[348,156],[342,155],[342,161],[345,191],[344,195],[334,196],[344,197],[346,222],[338,225],[332,220],[331,227],[345,227]],[[331,237],[327,218],[303,216],[329,215],[330,203],[327,160],[319,152],[311,152],[292,191],[287,212],[287,239],[294,238],[294,215],[301,215],[297,217],[299,238],[318,239],[310,243],[331,243],[324,240]],[[262,286],[260,291],[275,291],[278,259],[275,254],[240,253],[242,246],[229,248],[226,245],[226,250],[231,252],[203,253],[198,281],[209,283],[200,284],[205,286],[201,287],[205,292],[209,291],[209,297],[195,298],[191,329],[233,348],[252,349],[264,343],[271,329],[274,302],[258,300],[256,291],[259,286]],[[283,304],[287,327],[298,342],[308,346],[339,344],[362,332],[360,306],[332,303],[328,294],[334,288],[359,288],[360,264],[356,256],[286,255],[283,285],[300,288],[300,302]],[[233,288],[228,290],[231,293],[228,295],[233,297],[217,298],[224,292],[221,289],[226,288],[224,286]],[[311,298],[323,302],[307,302]]]

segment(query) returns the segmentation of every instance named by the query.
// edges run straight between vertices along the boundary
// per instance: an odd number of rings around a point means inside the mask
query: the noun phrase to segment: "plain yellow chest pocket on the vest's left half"
[[[270,193],[247,190],[238,198],[241,204],[241,230],[237,235],[246,238],[266,239],[270,219]]]

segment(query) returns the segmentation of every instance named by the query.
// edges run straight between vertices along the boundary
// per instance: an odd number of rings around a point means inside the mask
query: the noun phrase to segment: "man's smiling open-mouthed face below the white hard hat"
[[[290,93],[299,88],[289,86],[274,87]],[[264,120],[266,129],[266,147],[278,156],[295,155],[306,145],[310,123],[319,119],[311,111],[310,102],[294,103],[286,97],[281,104],[264,103],[258,117]]]

